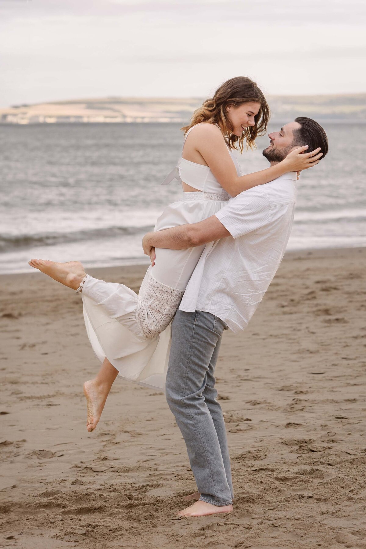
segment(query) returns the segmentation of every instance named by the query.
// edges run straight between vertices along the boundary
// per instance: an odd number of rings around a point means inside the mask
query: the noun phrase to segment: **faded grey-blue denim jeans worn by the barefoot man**
[[[201,494],[212,505],[232,503],[226,428],[215,389],[215,366],[226,323],[210,312],[177,311],[165,396],[181,430]]]

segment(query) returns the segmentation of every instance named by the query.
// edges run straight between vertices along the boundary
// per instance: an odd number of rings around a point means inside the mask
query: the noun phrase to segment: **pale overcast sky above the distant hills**
[[[0,0],[0,107],[366,91],[365,0]]]

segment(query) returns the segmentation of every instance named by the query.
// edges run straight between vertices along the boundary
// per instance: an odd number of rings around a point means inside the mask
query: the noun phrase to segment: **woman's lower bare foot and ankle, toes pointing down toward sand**
[[[87,400],[87,430],[89,433],[97,427],[105,401],[118,373],[118,370],[111,365],[108,358],[105,358],[97,376],[84,383],[84,394]]]

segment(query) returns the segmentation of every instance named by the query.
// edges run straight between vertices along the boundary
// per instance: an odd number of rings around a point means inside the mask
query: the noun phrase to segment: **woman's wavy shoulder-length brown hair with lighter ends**
[[[240,137],[234,135],[233,125],[228,119],[226,108],[229,105],[239,107],[243,103],[254,101],[260,103],[261,107],[258,114],[254,117],[255,125],[245,129]],[[255,82],[246,76],[235,76],[224,82],[217,88],[212,99],[206,99],[202,103],[202,107],[196,109],[188,126],[184,126],[181,130],[187,133],[189,128],[199,124],[200,122],[211,122],[217,124],[227,137],[229,146],[232,149],[237,149],[235,143],[239,142],[240,153],[243,153],[244,140],[246,139],[246,148],[255,149],[255,139],[257,136],[264,135],[267,131],[267,125],[271,112],[269,110],[266,98]]]

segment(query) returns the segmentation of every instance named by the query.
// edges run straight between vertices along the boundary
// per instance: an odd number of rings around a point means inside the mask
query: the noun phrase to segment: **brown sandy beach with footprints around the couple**
[[[91,275],[138,290],[147,266]],[[99,365],[82,301],[2,275],[0,547],[366,547],[366,248],[289,253],[216,367],[233,513],[184,518],[196,490],[163,393],[117,379],[93,433]]]

